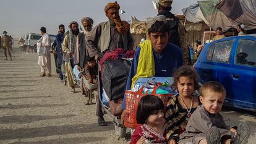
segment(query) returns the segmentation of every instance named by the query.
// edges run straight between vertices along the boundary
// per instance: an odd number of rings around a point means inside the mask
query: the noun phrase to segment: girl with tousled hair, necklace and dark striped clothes
[[[191,66],[182,66],[174,72],[172,88],[178,94],[171,97],[166,107],[167,142],[176,144],[179,135],[186,130],[189,117],[200,103],[194,91],[198,90],[198,76]]]

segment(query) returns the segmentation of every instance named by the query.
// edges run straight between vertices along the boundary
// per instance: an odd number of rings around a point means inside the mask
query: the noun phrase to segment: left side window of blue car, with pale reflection
[[[234,40],[221,41],[215,44],[212,61],[229,62]]]

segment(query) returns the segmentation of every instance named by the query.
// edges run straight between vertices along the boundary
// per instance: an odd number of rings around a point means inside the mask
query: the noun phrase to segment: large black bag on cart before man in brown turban
[[[110,100],[124,98],[131,62],[126,59],[108,59],[103,65],[103,88]]]

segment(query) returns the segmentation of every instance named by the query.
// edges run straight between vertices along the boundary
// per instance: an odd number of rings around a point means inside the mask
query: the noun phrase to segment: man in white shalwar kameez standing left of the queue
[[[42,37],[37,42],[38,64],[41,67],[41,77],[51,76],[51,40],[46,33],[46,28],[41,27]]]

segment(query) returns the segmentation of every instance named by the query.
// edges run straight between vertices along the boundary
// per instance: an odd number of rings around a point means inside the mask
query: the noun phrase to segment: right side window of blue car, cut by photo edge
[[[236,64],[256,66],[256,41],[239,40],[236,51]]]

